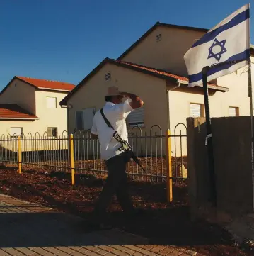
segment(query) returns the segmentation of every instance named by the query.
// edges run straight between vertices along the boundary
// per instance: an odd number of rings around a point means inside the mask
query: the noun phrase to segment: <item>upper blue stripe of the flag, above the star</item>
[[[247,18],[250,18],[250,9],[247,9],[246,11],[243,11],[239,14],[237,14],[234,18],[231,19],[228,23],[224,24],[223,26],[212,30],[209,33],[206,33],[200,38],[200,40],[197,40],[197,42],[192,45],[192,48],[197,45],[202,45],[203,43],[207,43],[219,35],[219,33],[223,32],[224,30],[227,30],[229,28],[233,28],[234,26],[237,26],[239,23],[246,21]]]

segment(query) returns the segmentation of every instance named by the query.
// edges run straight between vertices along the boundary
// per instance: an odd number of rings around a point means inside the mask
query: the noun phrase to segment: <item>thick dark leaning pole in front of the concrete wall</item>
[[[210,201],[214,206],[217,205],[217,195],[216,195],[216,184],[215,184],[215,172],[214,172],[214,151],[212,143],[212,127],[211,118],[209,110],[209,98],[208,98],[208,88],[207,88],[207,72],[209,67],[204,67],[202,69],[202,82],[204,89],[204,108],[205,108],[205,118],[207,126],[207,157],[208,157],[208,168],[209,168],[209,181],[210,181]]]

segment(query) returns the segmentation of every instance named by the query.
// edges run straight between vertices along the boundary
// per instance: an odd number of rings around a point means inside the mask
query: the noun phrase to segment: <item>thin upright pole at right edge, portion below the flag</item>
[[[250,132],[251,132],[251,170],[253,187],[253,211],[254,211],[254,134],[253,134],[253,91],[251,82],[251,60],[248,60],[248,93],[250,98]]]

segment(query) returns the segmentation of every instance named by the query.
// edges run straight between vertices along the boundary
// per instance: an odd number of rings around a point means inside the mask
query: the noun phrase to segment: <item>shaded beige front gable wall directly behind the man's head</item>
[[[105,82],[106,72],[111,72],[110,82]],[[73,105],[69,110],[71,133],[75,128],[75,111],[91,107],[96,107],[98,111],[105,104],[107,88],[112,85],[119,87],[120,91],[137,94],[144,101],[144,130],[149,131],[151,126],[156,124],[161,126],[163,131],[166,130],[166,117],[161,118],[167,111],[166,82],[148,74],[107,64],[67,102]]]

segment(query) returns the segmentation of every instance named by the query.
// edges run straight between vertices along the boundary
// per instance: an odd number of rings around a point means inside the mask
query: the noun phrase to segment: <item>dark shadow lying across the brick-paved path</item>
[[[3,209],[17,211],[17,207],[1,206],[0,211],[2,212]],[[64,213],[1,213],[0,226],[0,247],[71,247],[147,243],[144,238],[126,234],[117,229],[86,233],[80,218]]]

